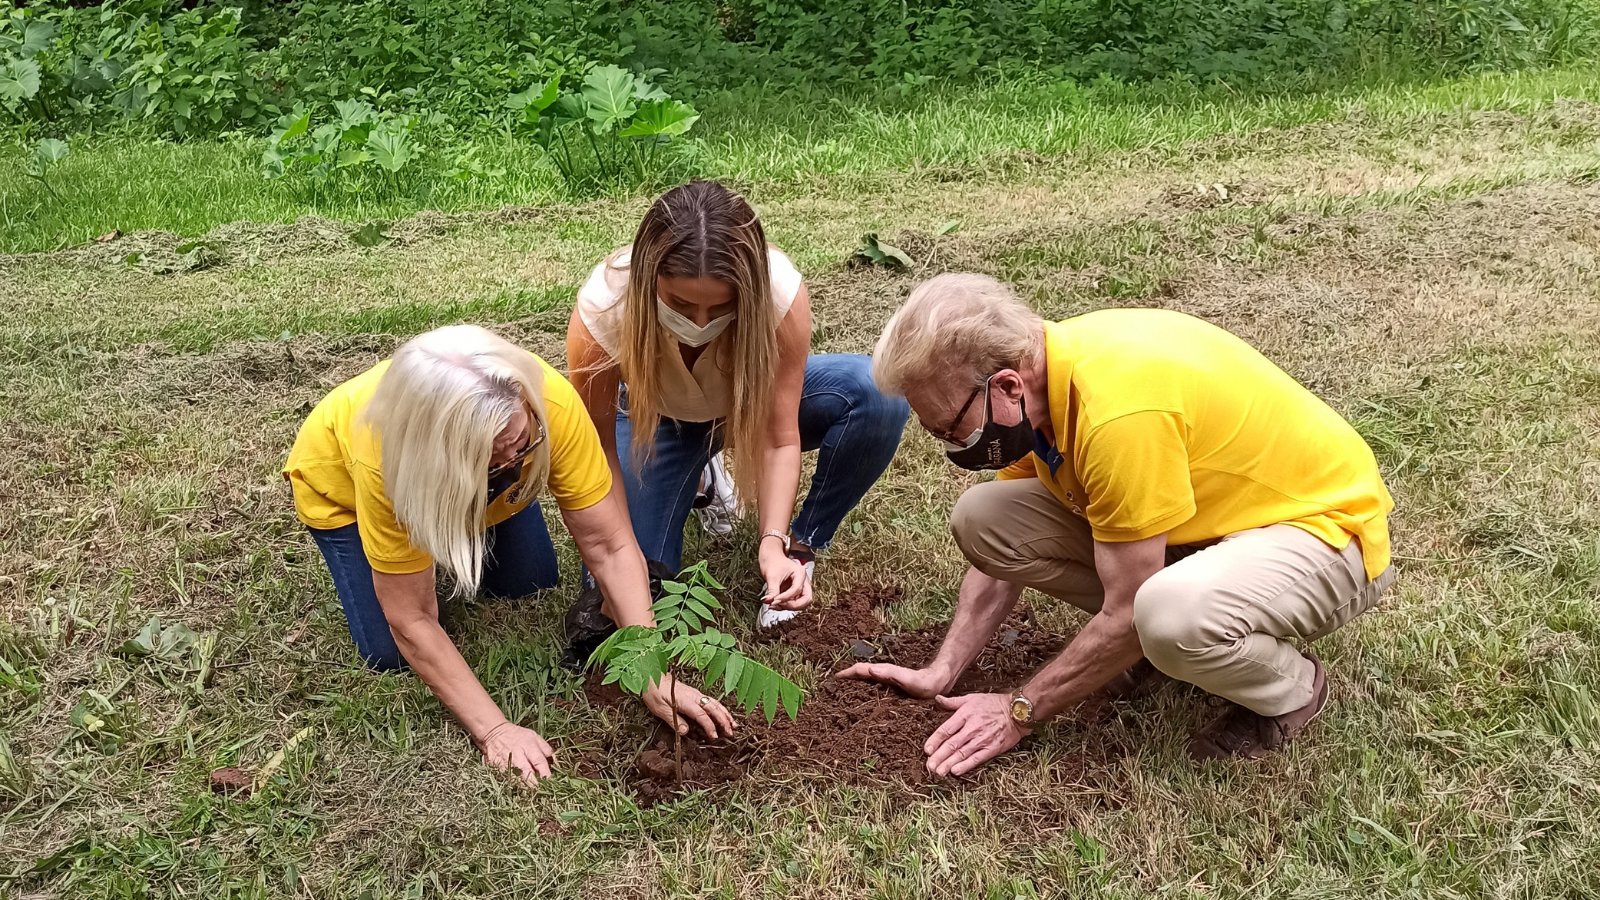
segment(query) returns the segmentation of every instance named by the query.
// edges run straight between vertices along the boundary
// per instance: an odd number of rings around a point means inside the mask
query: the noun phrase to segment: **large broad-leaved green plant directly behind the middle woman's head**
[[[573,191],[659,181],[669,160],[658,154],[699,120],[693,106],[618,66],[589,70],[576,91],[562,93],[555,78],[533,85],[506,107]]]

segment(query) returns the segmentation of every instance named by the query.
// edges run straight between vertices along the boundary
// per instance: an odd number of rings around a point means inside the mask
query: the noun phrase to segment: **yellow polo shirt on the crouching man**
[[[1389,567],[1394,500],[1371,448],[1245,341],[1181,312],[1104,309],[1046,323],[1045,356],[1056,469],[1035,452],[1000,477],[1040,477],[1096,540],[1288,524],[1334,549],[1360,540],[1368,578]]]

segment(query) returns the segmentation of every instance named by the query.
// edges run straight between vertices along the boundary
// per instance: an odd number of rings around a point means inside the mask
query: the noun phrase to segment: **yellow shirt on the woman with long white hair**
[[[562,509],[587,509],[611,490],[611,468],[578,391],[542,359],[534,359],[544,370],[544,413],[549,420],[550,477],[544,487]],[[294,439],[283,477],[294,488],[294,512],[301,522],[310,528],[342,528],[355,522],[371,567],[389,575],[408,575],[422,572],[434,560],[411,546],[405,527],[395,520],[394,506],[384,493],[381,444],[371,428],[357,423],[387,370],[389,360],[379,362],[317,404]],[[538,498],[539,492],[530,490],[536,485],[525,484],[528,468],[525,464],[517,484],[490,503],[486,525],[510,519]]]

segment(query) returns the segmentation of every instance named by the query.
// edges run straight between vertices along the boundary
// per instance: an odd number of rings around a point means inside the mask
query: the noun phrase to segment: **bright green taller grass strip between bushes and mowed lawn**
[[[838,93],[798,99],[757,93],[712,102],[702,143],[683,171],[762,184],[774,195],[814,191],[816,179],[882,191],[885,179],[1006,176],[1030,165],[1078,167],[1104,154],[1179,154],[1222,135],[1338,122],[1355,110],[1378,127],[1470,110],[1534,110],[1555,98],[1597,99],[1586,69],[1483,74],[1448,82],[1347,88],[1293,96],[1230,96],[1187,85],[1077,86],[1000,82],[939,90],[893,106]],[[434,143],[446,162],[466,144]],[[294,181],[266,181],[261,141],[152,144],[136,138],[74,141],[53,173],[56,202],[26,179],[0,184],[0,251],[51,250],[96,235],[160,229],[200,235],[234,223],[288,223],[322,215],[350,223],[418,210],[485,210],[565,202],[560,179],[539,151],[512,138],[474,138],[501,178],[406,178],[398,189],[314,195]],[[1048,160],[1037,160],[1048,157]],[[19,165],[19,149],[0,162]],[[678,173],[674,173],[678,175]]]

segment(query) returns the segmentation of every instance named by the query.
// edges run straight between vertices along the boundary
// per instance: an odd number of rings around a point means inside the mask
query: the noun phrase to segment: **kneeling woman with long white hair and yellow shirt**
[[[435,569],[458,594],[517,597],[557,583],[538,496],[562,511],[621,626],[654,625],[645,557],[573,386],[542,359],[472,325],[427,331],[334,388],[283,468],[350,637],[374,669],[406,665],[485,762],[533,781],[554,751],[509,721],[438,623]],[[645,705],[707,735],[733,730],[717,700],[662,681]],[[680,725],[686,729],[686,724]]]

